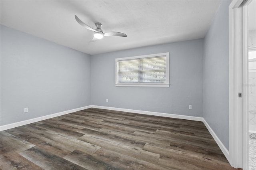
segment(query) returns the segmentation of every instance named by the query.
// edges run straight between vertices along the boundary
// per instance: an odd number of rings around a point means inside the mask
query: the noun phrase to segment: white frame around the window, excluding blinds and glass
[[[118,69],[117,63],[118,61],[123,60],[130,60],[130,59],[141,59],[141,58],[149,58],[149,57],[160,57],[166,56],[166,83],[118,83]],[[170,87],[170,53],[157,53],[157,54],[150,54],[150,55],[139,55],[133,57],[123,57],[123,58],[116,58],[116,87]]]

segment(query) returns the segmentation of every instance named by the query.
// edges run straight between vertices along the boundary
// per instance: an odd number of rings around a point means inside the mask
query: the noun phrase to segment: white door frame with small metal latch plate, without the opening
[[[252,0],[229,6],[229,155],[234,168],[248,169],[248,10]],[[242,93],[242,97],[238,97]]]

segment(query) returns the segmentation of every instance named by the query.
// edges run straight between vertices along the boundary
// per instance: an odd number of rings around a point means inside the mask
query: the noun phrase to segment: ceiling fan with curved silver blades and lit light
[[[122,32],[105,32],[103,33],[101,26],[102,24],[100,22],[96,22],[95,26],[96,29],[91,28],[90,26],[88,26],[87,24],[85,24],[84,22],[82,22],[76,15],[75,15],[76,21],[78,22],[78,24],[80,24],[82,27],[94,31],[94,37],[92,38],[92,40],[90,42],[94,42],[98,39],[102,39],[104,36],[119,36],[119,37],[127,37],[126,34],[122,33]]]

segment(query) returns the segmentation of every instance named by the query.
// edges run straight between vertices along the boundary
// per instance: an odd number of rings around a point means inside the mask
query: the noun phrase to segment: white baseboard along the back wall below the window
[[[133,109],[122,109],[122,108],[116,108],[116,107],[106,107],[106,106],[96,106],[96,105],[91,105],[91,107],[92,108],[96,108],[96,109],[107,109],[107,110],[112,110],[112,111],[122,111],[122,112],[138,113],[138,114],[143,114],[143,115],[170,117],[170,118],[186,119],[186,120],[200,121],[200,122],[203,121],[202,117],[175,115],[175,114],[150,112],[150,111],[139,111],[139,110],[133,110]]]

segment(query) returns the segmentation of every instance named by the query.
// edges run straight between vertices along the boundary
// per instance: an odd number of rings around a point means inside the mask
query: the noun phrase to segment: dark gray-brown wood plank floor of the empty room
[[[202,122],[103,109],[0,133],[0,168],[234,169]]]

